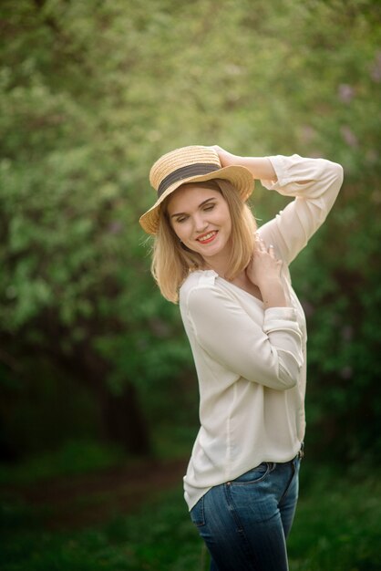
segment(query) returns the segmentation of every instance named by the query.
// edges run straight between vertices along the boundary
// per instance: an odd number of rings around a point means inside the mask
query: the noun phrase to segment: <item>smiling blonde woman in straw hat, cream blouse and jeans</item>
[[[257,229],[254,179],[290,202]],[[214,571],[285,571],[303,455],[305,343],[288,266],[335,202],[340,165],[245,158],[191,146],[150,171],[158,199],[152,272],[180,301],[200,388],[201,428],[184,477]]]

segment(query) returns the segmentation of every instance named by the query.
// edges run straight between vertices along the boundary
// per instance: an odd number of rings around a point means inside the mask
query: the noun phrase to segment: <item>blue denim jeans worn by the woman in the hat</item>
[[[288,571],[285,541],[299,467],[298,457],[263,462],[201,497],[190,517],[211,554],[211,571]]]

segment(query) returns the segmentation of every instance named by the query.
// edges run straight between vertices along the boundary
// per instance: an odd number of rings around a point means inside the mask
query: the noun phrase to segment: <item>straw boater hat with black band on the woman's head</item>
[[[142,228],[148,234],[156,234],[160,204],[181,184],[212,179],[232,182],[244,201],[249,198],[254,188],[252,173],[248,169],[238,165],[222,168],[217,151],[211,147],[192,145],[167,152],[155,162],[149,172],[149,182],[158,193],[158,199],[140,217]]]

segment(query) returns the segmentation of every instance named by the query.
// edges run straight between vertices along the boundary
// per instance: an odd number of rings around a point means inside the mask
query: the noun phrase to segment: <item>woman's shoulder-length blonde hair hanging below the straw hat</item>
[[[180,188],[187,186],[183,184]],[[232,217],[232,254],[225,278],[228,280],[242,272],[249,264],[257,229],[255,218],[246,202],[231,182],[216,179],[201,182],[202,187],[221,192]],[[201,254],[185,248],[175,234],[167,215],[170,197],[160,205],[160,220],[152,252],[151,272],[161,294],[172,303],[179,301],[179,289],[190,272],[204,267]]]

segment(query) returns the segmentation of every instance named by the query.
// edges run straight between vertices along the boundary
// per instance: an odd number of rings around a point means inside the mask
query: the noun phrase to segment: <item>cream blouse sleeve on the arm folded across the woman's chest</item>
[[[212,278],[214,279],[214,277]],[[231,371],[232,379],[247,379],[265,387],[291,389],[304,362],[303,341],[292,307],[259,308],[258,322],[233,296],[211,284],[191,288],[181,303],[190,339],[202,356]]]

